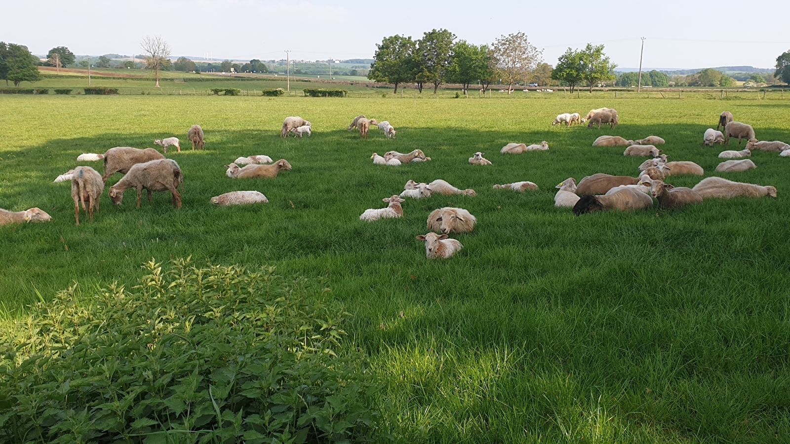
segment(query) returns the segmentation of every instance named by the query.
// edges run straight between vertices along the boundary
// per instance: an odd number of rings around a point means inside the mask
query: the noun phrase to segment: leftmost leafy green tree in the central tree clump
[[[371,63],[367,78],[372,81],[392,83],[397,94],[397,85],[415,79],[417,43],[411,36],[390,36],[385,37],[381,44],[377,43],[376,48],[374,62]],[[356,70],[352,70],[351,75],[357,75]]]

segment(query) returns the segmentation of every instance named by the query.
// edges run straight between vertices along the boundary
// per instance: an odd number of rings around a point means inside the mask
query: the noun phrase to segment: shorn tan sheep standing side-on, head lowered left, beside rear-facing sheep
[[[115,185],[110,187],[110,198],[115,205],[123,203],[123,192],[129,188],[137,189],[137,208],[140,208],[143,189],[148,190],[149,202],[152,191],[169,190],[173,194],[172,205],[181,208],[181,194],[178,186],[183,190],[184,175],[179,164],[172,159],[151,160],[144,164],[134,164],[129,172]]]

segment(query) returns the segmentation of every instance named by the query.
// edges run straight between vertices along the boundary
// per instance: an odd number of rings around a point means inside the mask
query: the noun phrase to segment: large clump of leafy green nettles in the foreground
[[[360,442],[379,389],[338,356],[347,313],[274,267],[167,271],[133,291],[77,284],[2,333],[0,442]]]

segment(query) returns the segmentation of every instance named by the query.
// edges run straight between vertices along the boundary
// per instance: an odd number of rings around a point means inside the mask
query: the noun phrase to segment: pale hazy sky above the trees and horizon
[[[170,43],[174,56],[209,55],[220,61],[280,59],[285,50],[297,60],[373,58],[384,37],[417,39],[433,28],[449,29],[459,40],[476,44],[525,32],[552,65],[568,47],[595,43],[604,44],[605,54],[619,67],[638,67],[641,37],[645,68],[772,68],[777,56],[790,50],[790,36],[781,31],[786,14],[750,12],[743,2],[732,0],[615,0],[593,7],[591,2],[532,6],[511,0],[4,3],[0,41],[24,44],[33,54],[58,46],[77,55],[139,54],[141,40],[157,35]]]

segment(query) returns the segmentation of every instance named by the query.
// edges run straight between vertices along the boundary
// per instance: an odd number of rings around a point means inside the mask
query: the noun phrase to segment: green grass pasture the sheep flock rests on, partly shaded
[[[276,265],[329,279],[354,315],[344,346],[371,356],[386,384],[381,402],[393,405],[387,422],[404,442],[788,442],[790,160],[754,152],[756,170],[718,174],[777,186],[776,199],[576,217],[553,206],[555,184],[634,175],[643,159],[590,147],[611,130],[549,123],[561,112],[615,107],[614,134],[664,137],[672,160],[693,160],[708,176],[721,149],[703,147],[702,133],[721,111],[754,125],[761,140],[788,141],[790,100],[585,96],[0,96],[0,207],[38,206],[53,217],[0,228],[2,316],[24,317],[27,304],[73,281],[134,284],[151,258]],[[348,133],[359,113],[392,122],[397,139]],[[312,137],[277,137],[288,115],[310,120]],[[205,130],[203,152],[186,141],[194,123]],[[105,194],[96,220],[74,226],[70,186],[52,180],[78,154],[172,135],[186,148],[167,153],[184,171],[182,209],[168,193],[141,209],[133,191],[120,207]],[[498,152],[541,140],[549,151]],[[433,161],[371,164],[372,152],[416,148]],[[493,165],[469,165],[476,151]],[[287,159],[293,171],[224,175],[224,164],[254,154]],[[408,179],[446,179],[478,196],[408,200],[401,219],[358,220]],[[540,190],[491,189],[520,180]],[[209,203],[231,190],[259,190],[271,203]],[[429,262],[415,236],[446,205],[468,209],[478,225],[456,236],[459,254]]]

